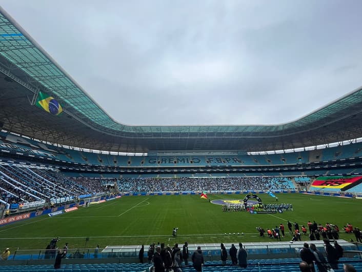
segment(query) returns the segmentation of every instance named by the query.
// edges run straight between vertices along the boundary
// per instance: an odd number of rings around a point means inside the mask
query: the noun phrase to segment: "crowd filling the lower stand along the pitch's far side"
[[[123,178],[118,180],[118,189],[123,192],[149,191],[232,191],[232,190],[291,190],[291,182],[269,177],[233,178]]]

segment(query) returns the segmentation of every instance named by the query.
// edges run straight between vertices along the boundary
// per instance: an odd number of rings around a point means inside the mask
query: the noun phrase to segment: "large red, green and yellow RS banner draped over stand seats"
[[[312,183],[316,188],[336,188],[341,191],[348,190],[362,182],[362,176],[333,176],[319,177]]]

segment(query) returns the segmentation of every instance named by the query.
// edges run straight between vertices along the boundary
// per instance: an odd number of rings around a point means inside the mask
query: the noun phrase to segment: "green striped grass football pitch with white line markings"
[[[245,195],[208,195],[209,199],[243,199]],[[259,195],[263,203],[275,203],[267,194]],[[351,223],[362,227],[362,200],[298,193],[277,195],[279,203],[291,203],[294,211],[274,214],[223,212],[222,206],[209,203],[197,195],[129,196],[62,215],[48,215],[0,227],[0,248],[45,249],[53,237],[59,237],[59,247],[100,248],[108,245],[238,243],[270,241],[258,236],[255,229],[279,226],[287,220],[307,226],[308,220],[336,224],[340,239],[354,240],[343,232]],[[178,227],[177,237],[172,229]],[[286,227],[287,229],[287,227]],[[244,235],[242,235],[244,232]],[[235,235],[234,235],[235,233]],[[239,235],[238,235],[239,233]],[[225,235],[227,234],[227,235]],[[231,235],[229,235],[231,234]],[[86,238],[89,241],[85,245]],[[286,235],[282,241],[290,241]],[[302,235],[302,240],[308,237]]]

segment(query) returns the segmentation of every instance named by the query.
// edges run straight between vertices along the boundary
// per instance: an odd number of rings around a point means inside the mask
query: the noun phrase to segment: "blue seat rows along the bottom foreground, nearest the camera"
[[[220,261],[206,261],[204,272],[298,272],[300,258],[255,259],[248,260],[247,268],[231,265],[220,265]],[[343,263],[352,264],[357,272],[362,272],[362,260],[341,258],[338,270],[343,272]],[[138,272],[148,271],[150,264],[144,263],[108,263],[108,264],[64,264],[62,268],[53,269],[53,265],[0,265],[0,272]],[[192,266],[182,267],[183,272],[195,272]]]

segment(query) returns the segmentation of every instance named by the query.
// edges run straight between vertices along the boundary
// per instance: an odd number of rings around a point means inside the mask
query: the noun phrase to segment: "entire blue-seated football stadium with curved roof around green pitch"
[[[0,46],[0,271],[362,271],[362,88],[277,125],[125,125],[3,8]]]

